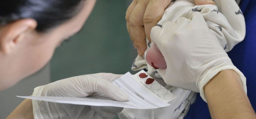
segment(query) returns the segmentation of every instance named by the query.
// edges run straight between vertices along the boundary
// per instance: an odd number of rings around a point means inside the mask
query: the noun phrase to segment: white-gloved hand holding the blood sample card
[[[70,96],[86,97],[93,93],[101,93],[116,100],[126,101],[129,96],[119,87],[110,83],[122,75],[112,73],[96,73],[62,79],[34,89],[32,96]],[[105,119],[114,118],[121,112],[120,107],[96,107],[74,104],[60,104],[32,100],[35,119]]]

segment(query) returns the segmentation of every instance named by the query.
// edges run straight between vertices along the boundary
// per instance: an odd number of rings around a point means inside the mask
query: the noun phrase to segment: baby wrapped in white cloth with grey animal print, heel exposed
[[[214,0],[216,5],[196,6],[194,0],[172,0],[171,4],[166,8],[162,19],[158,22],[158,26],[162,26],[166,21],[176,23],[180,17],[190,18],[193,12],[200,12],[205,18],[207,25],[216,40],[221,44],[223,49],[228,52],[245,37],[245,21],[243,13],[238,7],[235,0]],[[200,28],[200,26],[198,26]],[[185,35],[185,34],[184,34]],[[150,54],[152,44],[146,39],[147,49],[145,55],[138,56],[133,65],[132,70],[147,69],[148,74],[155,77],[157,82],[166,87],[169,91],[177,96],[176,99],[170,101],[171,106],[159,109],[124,109],[118,116],[122,119],[172,119],[183,118],[191,104],[196,99],[196,93],[183,90],[177,87],[167,85],[155,68],[164,68],[164,59],[160,54]],[[177,44],[178,45],[178,44]],[[153,46],[156,48],[155,46]],[[147,61],[145,60],[147,56]],[[159,56],[159,57],[154,57]],[[152,58],[153,57],[153,58]],[[150,59],[152,58],[152,59]],[[154,60],[156,59],[156,60]],[[160,61],[160,62],[159,62]],[[153,62],[153,64],[152,64]],[[154,66],[154,67],[152,67]]]

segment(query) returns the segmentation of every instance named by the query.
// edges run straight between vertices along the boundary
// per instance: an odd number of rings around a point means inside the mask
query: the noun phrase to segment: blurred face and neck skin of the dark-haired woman
[[[49,32],[38,33],[34,29],[19,36],[19,44],[16,43],[10,52],[1,53],[0,50],[0,66],[5,68],[0,69],[0,91],[43,68],[51,59],[55,48],[82,28],[95,1],[85,1],[76,16]]]

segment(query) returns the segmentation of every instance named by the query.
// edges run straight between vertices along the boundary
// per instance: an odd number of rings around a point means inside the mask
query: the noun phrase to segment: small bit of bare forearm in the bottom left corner
[[[34,119],[31,99],[25,99],[6,119]]]

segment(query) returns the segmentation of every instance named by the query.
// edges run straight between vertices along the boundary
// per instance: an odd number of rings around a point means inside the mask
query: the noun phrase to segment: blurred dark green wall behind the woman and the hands
[[[82,31],[56,49],[51,81],[91,73],[124,74],[137,56],[126,29],[131,1],[98,0]]]

